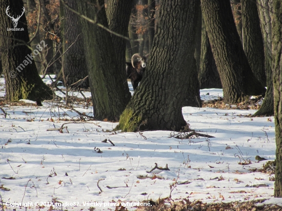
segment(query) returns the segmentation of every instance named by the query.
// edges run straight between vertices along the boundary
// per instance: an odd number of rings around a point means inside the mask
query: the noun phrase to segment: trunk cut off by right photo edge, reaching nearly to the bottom
[[[282,198],[282,1],[273,0],[272,50],[273,50],[273,87],[274,119],[276,137],[276,168],[274,197]]]

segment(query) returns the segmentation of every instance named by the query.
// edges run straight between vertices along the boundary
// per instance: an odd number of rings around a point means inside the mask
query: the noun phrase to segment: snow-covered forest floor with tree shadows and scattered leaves
[[[3,96],[3,78],[0,82]],[[201,96],[217,98],[223,91],[201,90]],[[273,117],[248,116],[256,110],[185,107],[183,115],[191,129],[215,138],[181,140],[169,138],[171,131],[146,131],[144,139],[139,133],[111,132],[117,125],[112,122],[93,121],[101,128],[80,123],[66,124],[63,133],[47,131],[67,122],[59,117],[78,115],[50,102],[43,105],[1,106],[8,114],[0,119],[0,196],[7,210],[26,210],[11,206],[21,202],[32,210],[47,210],[52,203],[53,209],[62,208],[55,202],[68,210],[115,210],[117,202],[157,200],[170,193],[173,200],[267,199],[264,203],[282,205],[282,199],[273,197],[274,182],[269,178],[274,174],[252,172],[267,162],[257,162],[255,156],[275,159]],[[92,108],[78,107],[91,115]],[[102,142],[105,139],[115,145]],[[240,153],[251,161],[249,165],[238,164]],[[155,163],[167,164],[170,171],[147,173]],[[268,172],[274,168],[269,166]]]

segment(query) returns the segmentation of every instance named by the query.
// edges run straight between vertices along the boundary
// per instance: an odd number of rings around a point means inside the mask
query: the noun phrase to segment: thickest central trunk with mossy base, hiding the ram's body
[[[162,0],[144,78],[116,130],[137,131],[143,123],[141,130],[180,130],[186,125],[182,105],[188,90],[189,72],[195,64],[198,6],[198,0]]]

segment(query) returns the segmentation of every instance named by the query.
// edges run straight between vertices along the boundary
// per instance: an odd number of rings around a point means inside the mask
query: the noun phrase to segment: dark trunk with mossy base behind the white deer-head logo
[[[24,3],[22,0],[0,0],[0,8],[10,6],[9,13],[21,15]],[[16,101],[19,99],[44,100],[52,98],[52,90],[45,85],[39,77],[33,56],[42,51],[44,44],[38,44],[36,51],[25,46],[18,45],[29,41],[27,20],[25,14],[19,18],[16,28],[22,28],[23,31],[8,31],[7,28],[14,28],[10,17],[6,13],[0,14],[0,46],[2,66],[5,70],[6,99]],[[13,47],[15,46],[15,47]]]

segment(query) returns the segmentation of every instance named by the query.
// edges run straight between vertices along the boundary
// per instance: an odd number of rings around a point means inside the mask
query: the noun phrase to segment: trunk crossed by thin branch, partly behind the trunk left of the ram
[[[129,24],[129,18],[131,13],[131,5],[132,5],[132,0],[128,0],[128,1],[108,0],[106,14],[107,14],[110,30],[124,36],[128,35],[128,24]],[[131,94],[129,92],[126,71],[125,71],[126,40],[114,34],[111,34],[111,37],[112,37],[112,43],[117,61],[117,70],[119,74],[122,76],[122,78],[124,79],[123,85],[126,92],[126,101],[128,103],[131,98]]]

